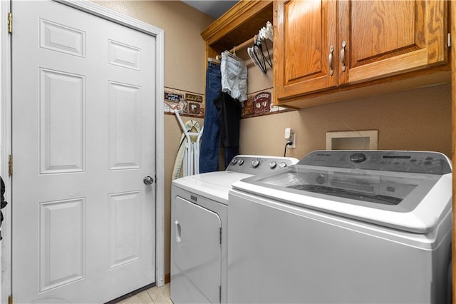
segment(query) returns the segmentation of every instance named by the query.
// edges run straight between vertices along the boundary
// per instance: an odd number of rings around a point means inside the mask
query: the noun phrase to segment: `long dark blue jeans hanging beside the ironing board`
[[[220,66],[209,62],[206,71],[206,108],[204,130],[199,148],[199,173],[219,169],[219,129],[220,120],[214,100],[222,93]]]

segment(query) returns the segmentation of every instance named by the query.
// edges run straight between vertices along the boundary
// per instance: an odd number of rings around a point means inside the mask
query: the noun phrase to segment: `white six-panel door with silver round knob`
[[[155,38],[13,1],[12,293],[105,303],[155,282]]]

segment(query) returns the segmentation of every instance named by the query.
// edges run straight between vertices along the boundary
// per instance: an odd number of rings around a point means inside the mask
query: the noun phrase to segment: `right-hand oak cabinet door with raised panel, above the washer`
[[[447,1],[342,0],[338,8],[339,84],[447,62]]]

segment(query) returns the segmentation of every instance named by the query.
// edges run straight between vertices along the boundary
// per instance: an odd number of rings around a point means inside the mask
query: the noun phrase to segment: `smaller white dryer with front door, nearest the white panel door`
[[[296,158],[233,158],[226,171],[172,181],[171,300],[227,303],[227,203],[234,181],[276,172]]]

